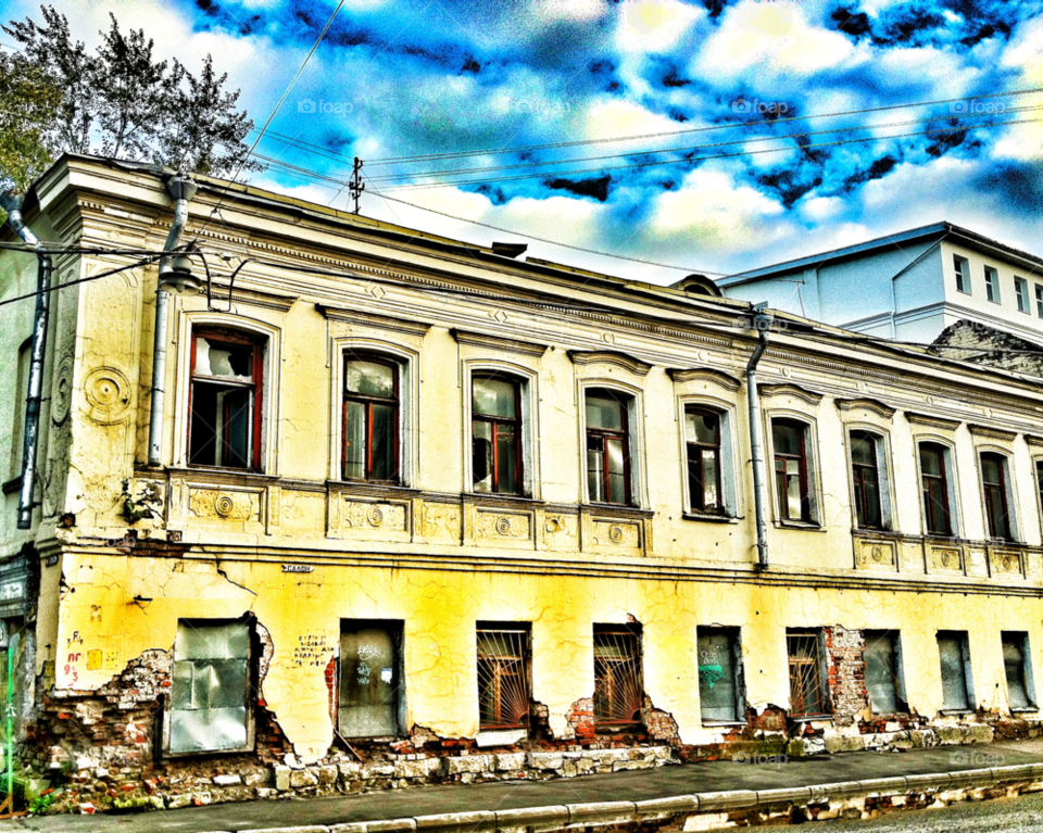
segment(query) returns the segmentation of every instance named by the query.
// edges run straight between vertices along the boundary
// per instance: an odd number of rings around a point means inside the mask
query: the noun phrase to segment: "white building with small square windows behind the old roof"
[[[929,343],[958,320],[1043,339],[1043,258],[951,223],[717,283],[728,298],[889,339]]]

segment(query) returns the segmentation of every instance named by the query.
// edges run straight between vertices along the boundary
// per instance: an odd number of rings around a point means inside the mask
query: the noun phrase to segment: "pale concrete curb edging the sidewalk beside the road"
[[[517,831],[536,826],[556,830],[568,824],[620,824],[645,821],[650,817],[727,812],[784,804],[817,804],[868,796],[937,793],[944,790],[993,786],[1000,783],[1030,784],[1043,781],[1043,763],[1023,763],[957,772],[931,772],[922,775],[875,778],[832,784],[784,787],[780,790],[731,790],[716,793],[676,795],[643,802],[592,802],[587,804],[522,807],[513,810],[474,810],[443,812],[381,821],[355,821],[344,824],[309,824],[298,828],[259,828],[235,833],[432,833],[433,831]],[[233,831],[210,831],[233,833]]]

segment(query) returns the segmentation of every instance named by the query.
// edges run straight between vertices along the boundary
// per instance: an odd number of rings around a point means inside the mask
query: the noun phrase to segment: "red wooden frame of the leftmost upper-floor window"
[[[200,325],[192,327],[189,345],[188,364],[188,418],[187,433],[185,439],[186,464],[192,468],[217,468],[233,471],[249,471],[262,474],[264,471],[262,462],[262,436],[264,418],[264,386],[265,386],[265,350],[267,338],[249,330],[239,330],[231,327],[224,328],[219,326]],[[199,339],[213,340],[217,344],[240,344],[250,345],[253,349],[251,358],[251,375],[253,380],[250,382],[239,382],[237,380],[225,379],[217,376],[203,376],[196,374],[197,346]],[[221,384],[227,388],[253,389],[251,395],[250,415],[250,439],[248,447],[250,450],[250,464],[248,466],[229,466],[227,464],[209,464],[192,462],[192,427],[194,422],[193,404],[196,400],[197,379],[203,384]]]

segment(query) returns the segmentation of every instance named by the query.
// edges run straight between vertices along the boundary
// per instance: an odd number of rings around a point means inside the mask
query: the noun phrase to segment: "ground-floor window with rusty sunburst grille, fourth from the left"
[[[641,631],[634,624],[594,626],[594,723],[641,723]]]

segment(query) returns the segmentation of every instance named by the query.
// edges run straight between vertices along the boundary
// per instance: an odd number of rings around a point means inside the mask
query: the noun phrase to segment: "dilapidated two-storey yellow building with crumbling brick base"
[[[1038,379],[86,156],[21,219],[2,644],[71,800],[1039,734]]]

